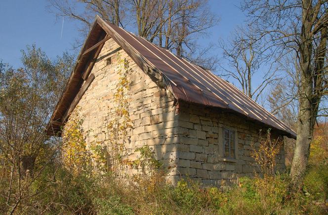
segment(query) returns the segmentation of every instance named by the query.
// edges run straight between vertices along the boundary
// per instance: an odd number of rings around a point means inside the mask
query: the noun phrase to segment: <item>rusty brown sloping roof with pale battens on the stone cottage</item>
[[[219,76],[99,17],[95,23],[122,46],[144,72],[164,83],[178,101],[232,110],[296,138],[296,133],[286,124]]]

